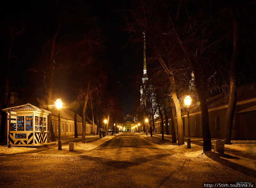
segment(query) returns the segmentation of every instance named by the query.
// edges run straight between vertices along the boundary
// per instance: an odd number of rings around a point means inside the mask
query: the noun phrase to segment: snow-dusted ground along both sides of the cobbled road
[[[40,152],[41,154],[45,155],[71,155],[76,156],[78,154],[82,154],[85,151],[92,150],[104,142],[112,139],[114,136],[120,135],[109,135],[106,137],[102,137],[101,139],[98,137],[93,137],[92,135],[86,135],[86,142],[81,143],[81,141],[76,142],[75,151],[70,152],[69,151],[69,145],[68,142],[81,139],[81,136],[78,138],[69,137],[69,138],[62,138],[62,150],[58,150],[58,142],[55,146],[51,146],[50,148],[45,151]],[[224,153],[219,154],[217,152],[208,153],[207,155],[203,153],[203,139],[200,137],[192,137],[191,138],[191,148],[187,149],[187,143],[185,142],[185,145],[178,146],[177,143],[171,143],[171,136],[170,135],[164,135],[164,140],[162,140],[161,135],[153,135],[153,137],[150,137],[150,134],[146,136],[144,133],[132,133],[137,134],[144,139],[154,142],[158,145],[159,148],[166,149],[171,152],[175,152],[173,156],[177,157],[189,157],[200,160],[200,158],[204,158],[204,160],[213,160],[214,158],[228,160],[230,162],[237,163],[239,165],[243,165],[245,167],[248,167],[250,169],[256,170],[256,160],[249,159],[250,157],[246,157],[246,154],[248,156],[252,156],[256,154],[256,140],[232,140],[231,145],[225,145],[225,150],[229,149],[232,151],[240,152],[245,154],[245,157],[237,156],[235,154],[231,153]],[[91,138],[92,137],[92,138]],[[212,139],[212,143],[213,143]],[[185,139],[186,141],[186,139]],[[197,144],[193,144],[193,142]],[[33,151],[34,150],[34,151]],[[0,146],[0,156],[8,155],[8,154],[20,154],[20,153],[28,153],[28,152],[36,152],[38,149],[35,148],[26,148],[26,147],[11,147],[8,148],[6,146]],[[228,152],[228,151],[227,151]],[[35,154],[36,155],[36,154]],[[210,158],[209,158],[210,157]]]

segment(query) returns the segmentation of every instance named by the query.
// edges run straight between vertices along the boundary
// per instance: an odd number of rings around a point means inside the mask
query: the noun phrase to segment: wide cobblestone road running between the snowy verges
[[[0,187],[198,188],[203,182],[256,182],[255,174],[234,170],[225,161],[186,157],[133,133],[72,155],[51,150],[56,148],[2,156]]]

